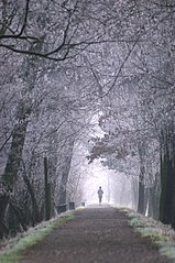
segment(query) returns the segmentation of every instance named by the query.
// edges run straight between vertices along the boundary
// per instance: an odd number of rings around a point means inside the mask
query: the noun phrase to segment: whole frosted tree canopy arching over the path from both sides
[[[174,11],[173,0],[1,1],[0,237],[45,219],[45,157],[52,215],[80,201],[97,114],[106,135],[90,160],[139,177],[141,212],[146,197],[157,215],[162,190],[160,218],[174,226]]]

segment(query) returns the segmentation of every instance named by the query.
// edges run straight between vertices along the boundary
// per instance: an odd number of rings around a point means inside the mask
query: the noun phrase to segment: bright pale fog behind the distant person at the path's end
[[[131,178],[102,166],[98,160],[89,165],[89,175],[84,185],[84,201],[87,205],[98,204],[97,190],[99,186],[103,190],[102,202],[133,207]]]

